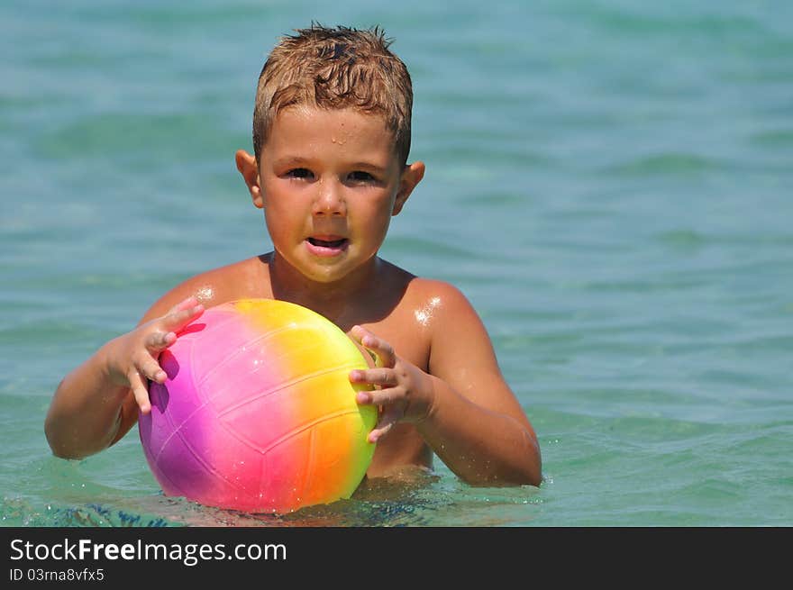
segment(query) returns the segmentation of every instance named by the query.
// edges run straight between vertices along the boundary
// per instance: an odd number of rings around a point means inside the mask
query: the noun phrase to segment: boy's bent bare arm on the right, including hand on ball
[[[539,486],[542,459],[536,435],[498,368],[479,315],[451,286],[443,288],[440,300],[433,313],[429,374],[399,359],[376,335],[360,328],[351,332],[384,367],[353,372],[353,381],[380,387],[359,394],[361,403],[383,405],[371,438],[395,422],[413,422],[463,480]]]

